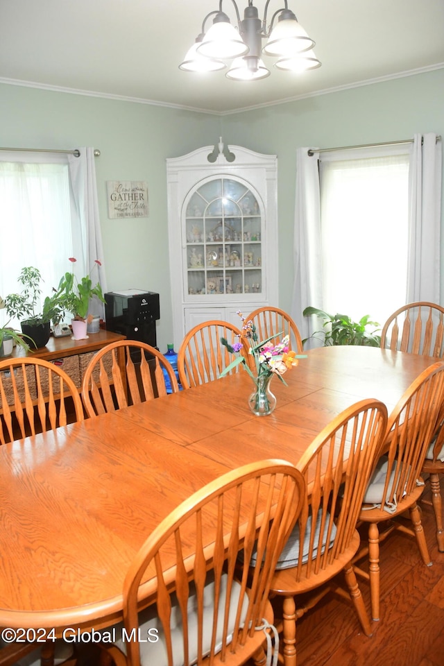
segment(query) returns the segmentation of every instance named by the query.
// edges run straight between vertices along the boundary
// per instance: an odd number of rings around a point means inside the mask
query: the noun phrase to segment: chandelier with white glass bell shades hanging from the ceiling
[[[214,10],[205,16],[200,35],[179,65],[185,71],[217,71],[228,67],[228,78],[237,81],[259,80],[270,76],[261,55],[278,58],[275,67],[287,71],[305,71],[321,67],[321,62],[314,55],[314,40],[311,39],[298,23],[296,15],[289,10],[287,0],[284,7],[275,11],[268,28],[267,11],[270,0],[266,1],[264,18],[259,19],[253,0],[248,0],[241,21],[237,4],[232,0],[237,17],[237,28],[230,24],[230,19],[222,11]],[[205,23],[210,17],[213,23],[205,33]],[[277,20],[276,20],[277,19]],[[267,40],[262,46],[262,40]]]

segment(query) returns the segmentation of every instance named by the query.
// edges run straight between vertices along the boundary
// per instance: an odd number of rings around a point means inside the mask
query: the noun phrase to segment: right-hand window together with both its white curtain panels
[[[407,302],[441,302],[440,138],[297,149],[291,314],[303,338],[318,330],[310,305],[384,323]]]

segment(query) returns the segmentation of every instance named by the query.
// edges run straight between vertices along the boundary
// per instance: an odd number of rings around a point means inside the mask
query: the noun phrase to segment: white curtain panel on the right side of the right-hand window
[[[442,143],[416,134],[409,171],[407,302],[440,302]]]

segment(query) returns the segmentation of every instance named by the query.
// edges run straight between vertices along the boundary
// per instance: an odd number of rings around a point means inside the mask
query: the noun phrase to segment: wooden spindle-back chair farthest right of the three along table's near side
[[[415,536],[422,561],[432,565],[417,502],[424,491],[421,470],[443,398],[444,362],[438,361],[412,382],[388,418],[386,437],[359,513],[359,522],[368,524],[368,545],[355,558],[368,556],[368,572],[355,568],[370,582],[373,620],[379,620],[379,543],[393,529]],[[413,529],[396,520],[407,510]],[[382,533],[379,523],[388,523]]]

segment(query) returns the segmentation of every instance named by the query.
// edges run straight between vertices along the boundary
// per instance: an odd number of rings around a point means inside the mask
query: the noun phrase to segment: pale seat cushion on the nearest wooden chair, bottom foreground
[[[227,581],[228,577],[223,574],[221,577],[221,595],[219,597],[219,615],[216,631],[216,652],[221,651],[222,648],[222,634],[223,634],[223,609],[225,606],[225,598],[227,594]],[[188,599],[188,638],[189,638],[189,664],[190,666],[197,663],[198,645],[197,645],[197,629],[198,629],[198,609],[196,593],[192,593],[192,586],[190,586],[190,596]],[[236,612],[241,593],[241,586],[237,581],[233,583],[233,589],[230,597],[230,612],[228,621],[228,640],[232,640],[232,632],[236,621]],[[184,663],[183,651],[183,633],[182,633],[182,615],[178,606],[176,597],[171,596],[171,641],[173,645],[173,666],[182,666]],[[241,624],[242,626],[248,608],[248,596],[244,595],[242,602]],[[213,624],[213,610],[214,610],[214,580],[211,580],[205,585],[204,590],[204,608],[203,608],[203,656],[210,654],[211,640],[212,640],[212,624]],[[150,606],[139,613],[139,636],[141,642],[139,643],[140,657],[142,666],[168,666],[167,646],[165,642],[165,635],[162,628],[162,622],[157,617],[156,607]],[[117,625],[116,645],[121,651],[126,654],[126,643],[122,640],[123,624]],[[152,641],[152,642],[151,642]]]

